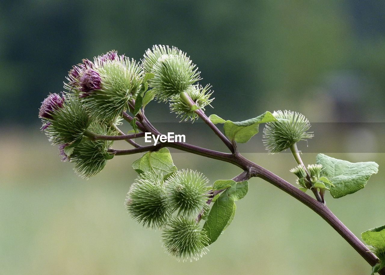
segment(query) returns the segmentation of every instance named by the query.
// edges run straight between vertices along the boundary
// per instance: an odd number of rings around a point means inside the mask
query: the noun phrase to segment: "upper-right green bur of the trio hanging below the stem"
[[[179,209],[183,216],[197,215],[207,207],[208,179],[192,170],[180,170],[166,181],[167,203],[172,212]]]

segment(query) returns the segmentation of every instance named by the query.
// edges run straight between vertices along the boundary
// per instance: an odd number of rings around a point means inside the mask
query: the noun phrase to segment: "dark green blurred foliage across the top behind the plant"
[[[325,104],[320,120],[325,111],[378,120],[364,110],[375,114],[384,100],[384,13],[374,0],[3,1],[0,119],[35,121],[42,98],[62,91],[82,58],[116,49],[138,60],[167,44],[191,55],[202,84],[213,85],[219,116],[229,106],[255,114],[241,108],[253,100],[261,110],[306,108],[316,96]]]

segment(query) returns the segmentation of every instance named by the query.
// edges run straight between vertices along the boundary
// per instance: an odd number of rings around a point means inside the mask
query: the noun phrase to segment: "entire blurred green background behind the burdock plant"
[[[139,60],[153,44],[166,44],[186,51],[202,72],[201,83],[213,85],[215,109],[208,114],[240,121],[292,109],[311,122],[384,122],[384,42],[380,0],[2,1],[0,273],[368,274],[365,260],[325,221],[261,179],[250,180],[233,223],[208,255],[177,262],[164,253],[159,231],[142,229],[125,211],[136,177],[131,163],[139,156],[116,157],[83,180],[72,164],[60,162],[57,148],[40,132],[37,112],[47,94],[62,91],[67,71],[81,59],[115,49]],[[176,122],[168,112],[165,104],[147,107],[155,124]],[[215,136],[195,125],[203,136],[181,124],[188,128],[187,141],[195,136],[200,145],[217,148]],[[359,236],[385,223],[385,154],[377,149],[384,135],[373,135],[372,126],[357,134],[349,125],[339,132],[346,146],[340,151],[329,149],[327,136],[313,140],[330,156],[380,164],[362,191],[326,198]],[[261,136],[253,139],[259,146]],[[305,163],[314,163],[313,140],[309,148],[300,146]],[[355,153],[357,141],[370,149]],[[172,156],[179,169],[198,169],[211,182],[240,173],[199,156]],[[294,183],[290,154],[245,156]]]

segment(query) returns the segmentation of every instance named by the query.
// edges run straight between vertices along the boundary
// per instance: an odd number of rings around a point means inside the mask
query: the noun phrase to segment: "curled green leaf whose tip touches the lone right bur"
[[[271,112],[265,112],[258,117],[248,119],[245,121],[233,122],[227,120],[224,122],[224,134],[231,140],[237,143],[246,143],[251,137],[258,133],[258,126],[260,123],[272,122],[277,119]]]

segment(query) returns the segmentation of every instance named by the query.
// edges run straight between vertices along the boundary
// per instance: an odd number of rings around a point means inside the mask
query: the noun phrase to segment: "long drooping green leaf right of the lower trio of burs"
[[[248,181],[238,183],[233,181],[230,185],[231,187],[226,189],[215,201],[203,225],[203,229],[206,230],[210,239],[209,244],[216,241],[223,230],[233,221],[236,210],[234,201],[242,199],[248,192]]]

